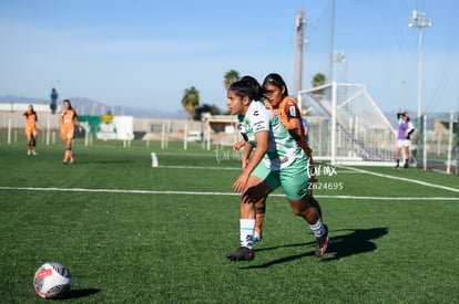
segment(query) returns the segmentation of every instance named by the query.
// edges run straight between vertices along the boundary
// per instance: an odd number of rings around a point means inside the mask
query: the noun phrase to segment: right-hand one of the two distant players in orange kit
[[[62,164],[73,164],[75,161],[72,153],[72,140],[75,137],[75,124],[82,132],[81,123],[78,119],[76,112],[73,109],[69,99],[63,101],[63,111],[60,117],[61,137],[65,143],[65,154]]]

